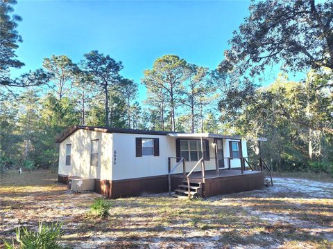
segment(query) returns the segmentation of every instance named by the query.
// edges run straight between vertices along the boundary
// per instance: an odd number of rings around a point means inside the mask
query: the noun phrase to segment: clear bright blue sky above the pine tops
[[[248,15],[249,4],[250,1],[19,1],[14,8],[23,18],[18,30],[24,42],[17,55],[26,64],[20,72],[40,68],[43,58],[51,55],[68,55],[79,62],[90,50],[121,60],[121,75],[138,83],[144,69],[167,54],[216,68],[232,31]],[[139,100],[144,98],[145,89],[140,86]]]

